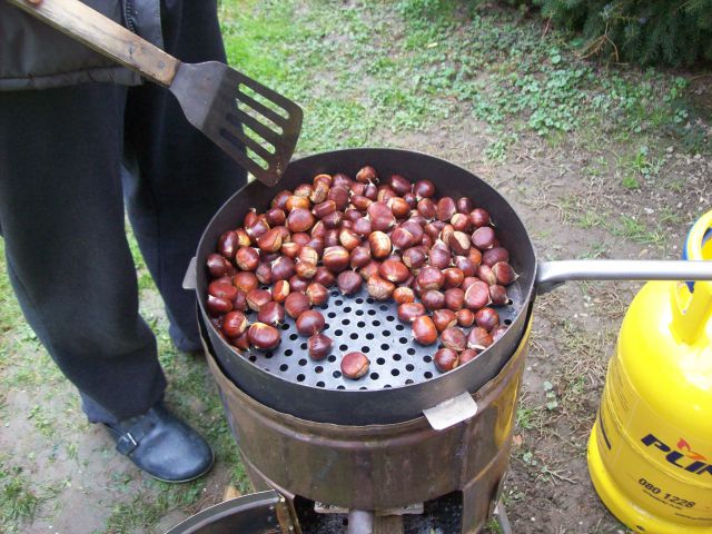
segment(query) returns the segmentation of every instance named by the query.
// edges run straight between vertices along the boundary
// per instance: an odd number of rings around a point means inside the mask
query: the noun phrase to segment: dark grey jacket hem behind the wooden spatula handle
[[[82,1],[162,46],[159,0]],[[140,77],[0,0],[0,90],[93,81],[137,85]]]

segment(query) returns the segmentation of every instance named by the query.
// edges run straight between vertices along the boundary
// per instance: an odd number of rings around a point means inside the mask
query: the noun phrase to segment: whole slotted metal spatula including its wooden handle
[[[269,186],[279,180],[301,129],[293,101],[220,62],[182,63],[79,0],[8,1],[167,87],[190,123],[240,166]]]

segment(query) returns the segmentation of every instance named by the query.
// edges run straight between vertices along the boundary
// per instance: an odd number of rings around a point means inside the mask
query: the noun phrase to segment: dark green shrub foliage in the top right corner
[[[534,0],[554,24],[581,32],[585,56],[641,65],[712,59],[712,0]]]

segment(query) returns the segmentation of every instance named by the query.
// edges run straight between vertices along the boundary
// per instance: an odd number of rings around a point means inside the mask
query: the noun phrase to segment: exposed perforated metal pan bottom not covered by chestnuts
[[[411,325],[398,319],[398,305],[394,300],[375,300],[366,289],[344,296],[332,288],[327,304],[317,309],[326,319],[324,334],[334,340],[326,358],[319,362],[309,358],[307,337],[297,333],[289,316],[281,325],[279,346],[267,352],[253,350],[247,358],[286,380],[327,389],[384,389],[425,382],[441,374],[433,363],[439,345],[417,344]],[[512,305],[496,308],[504,325],[511,324],[516,309]],[[249,319],[255,320],[256,314],[251,315]],[[342,357],[355,350],[370,359],[368,374],[357,380],[345,378],[340,370]]]

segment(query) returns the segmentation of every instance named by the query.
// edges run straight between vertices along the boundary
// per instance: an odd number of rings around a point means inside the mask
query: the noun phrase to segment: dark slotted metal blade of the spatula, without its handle
[[[181,63],[169,89],[190,123],[239,165],[268,186],[279,180],[301,130],[299,106],[217,61]]]

